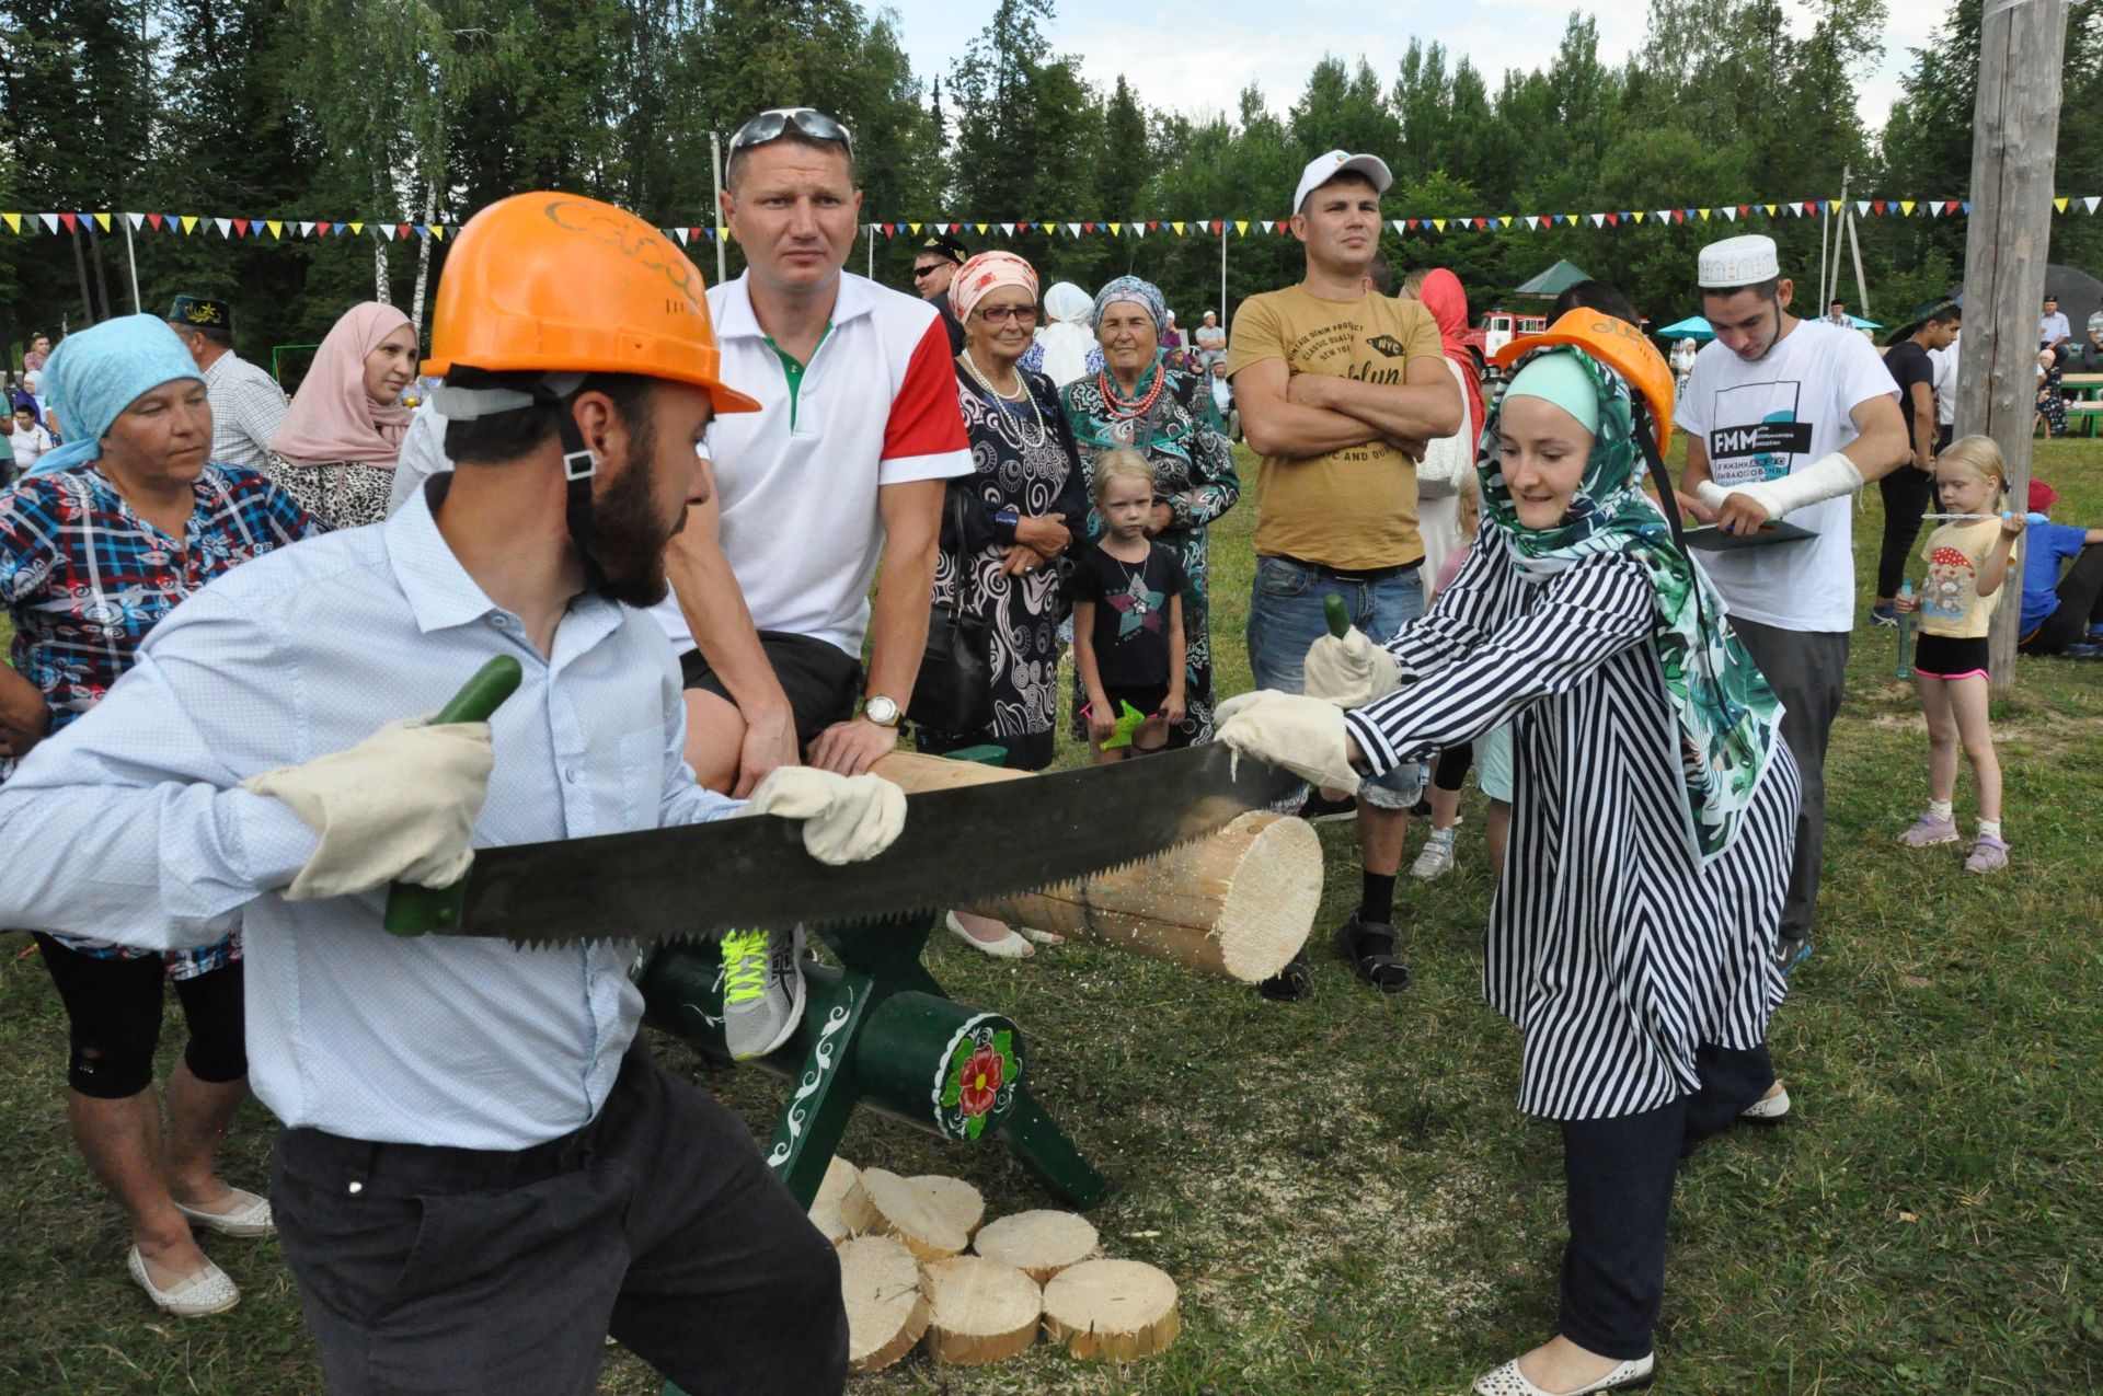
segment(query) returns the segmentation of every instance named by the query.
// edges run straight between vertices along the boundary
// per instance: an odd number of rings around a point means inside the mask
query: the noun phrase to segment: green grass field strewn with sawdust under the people
[[[2103,521],[2103,446],[2044,444],[2034,469],[2065,494],[2059,517]],[[1245,500],[1213,530],[1222,692],[1247,687],[1253,519]],[[1878,526],[1872,490],[1863,563]],[[1817,957],[1773,1024],[1796,1112],[1680,1173],[1657,1390],[2103,1390],[2103,664],[2023,660],[1996,732],[2015,866],[1977,879],[1960,851],[1903,854],[1924,730],[1891,631],[1855,633]],[[1028,1032],[1039,1095],[1119,1186],[1096,1217],[1104,1247],[1180,1280],[1184,1335],[1121,1371],[1039,1346],[991,1369],[913,1358],[852,1390],[1464,1392],[1552,1333],[1558,1140],[1512,1110],[1518,1041],[1478,997],[1491,885],[1472,791],[1464,809],[1466,870],[1403,894],[1415,986],[1396,999],[1327,954],[1306,1003],[1272,1005],[1112,950],[1009,967],[934,942],[959,999]],[[1968,828],[1962,782],[1958,814]],[[1323,843],[1325,938],[1356,896],[1356,851],[1350,826]],[[244,1291],[221,1318],[162,1318],[124,1278],[124,1226],[63,1125],[65,1020],[25,944],[0,938],[0,1392],[322,1392],[275,1243],[206,1243]],[[658,1055],[770,1129],[774,1079],[715,1072],[679,1043]],[[269,1129],[244,1112],[229,1179],[261,1182]],[[843,1154],[957,1173],[995,1213],[1045,1205],[1001,1150],[875,1116]],[[610,1350],[604,1390],[658,1381]]]

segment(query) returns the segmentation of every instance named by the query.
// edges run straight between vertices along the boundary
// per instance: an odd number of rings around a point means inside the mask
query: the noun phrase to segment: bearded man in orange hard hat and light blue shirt
[[[831,862],[898,835],[875,776],[789,767],[740,807],[683,761],[635,608],[705,492],[696,444],[751,399],[686,254],[562,193],[461,231],[431,347],[456,471],[179,605],[0,791],[40,868],[0,923],[164,948],[242,919],[271,1205],[334,1396],[587,1396],[608,1333],[692,1392],[839,1392],[839,1264],[744,1123],[635,1043],[633,944],[397,940],[374,896],[471,845],[784,803],[820,807]],[[492,721],[389,721],[492,656],[526,673]]]

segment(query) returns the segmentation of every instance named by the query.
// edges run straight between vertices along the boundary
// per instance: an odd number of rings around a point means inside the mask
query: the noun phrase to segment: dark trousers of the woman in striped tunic
[[[1615,1360],[1649,1356],[1666,1299],[1672,1179],[1695,1148],[1775,1085],[1767,1047],[1695,1053],[1701,1087],[1613,1121],[1563,1121],[1571,1240],[1563,1251],[1563,1337]]]

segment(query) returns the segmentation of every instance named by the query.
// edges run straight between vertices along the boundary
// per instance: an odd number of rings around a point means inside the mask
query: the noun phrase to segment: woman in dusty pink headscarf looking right
[[[284,425],[271,437],[271,477],[328,528],[387,517],[393,467],[412,408],[416,326],[381,301],[353,305],[322,336]]]

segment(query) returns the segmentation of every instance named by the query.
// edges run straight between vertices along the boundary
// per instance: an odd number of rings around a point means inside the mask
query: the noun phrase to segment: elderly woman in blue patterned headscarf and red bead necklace
[[[1171,746],[1211,740],[1211,563],[1205,528],[1241,498],[1234,448],[1220,433],[1211,389],[1163,362],[1169,313],[1161,290],[1121,275],[1096,292],[1096,343],[1102,368],[1068,383],[1062,397],[1083,465],[1129,446],[1155,467],[1152,534],[1184,570],[1186,715]],[[1094,484],[1094,477],[1089,477]],[[1102,532],[1089,517],[1089,536]],[[1081,702],[1075,702],[1075,711]],[[1075,723],[1075,736],[1085,725]]]

